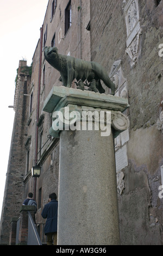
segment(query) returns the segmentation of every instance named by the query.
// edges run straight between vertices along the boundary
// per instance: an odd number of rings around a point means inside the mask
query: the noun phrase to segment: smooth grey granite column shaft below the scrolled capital
[[[61,131],[58,245],[118,245],[114,139]]]

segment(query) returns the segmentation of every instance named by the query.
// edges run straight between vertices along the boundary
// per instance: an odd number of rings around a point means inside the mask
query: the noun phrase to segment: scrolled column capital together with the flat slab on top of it
[[[53,137],[60,137],[62,130],[87,130],[87,123],[89,128],[93,123],[97,131],[108,129],[107,136],[112,127],[114,136],[117,137],[129,127],[128,118],[122,114],[128,107],[128,99],[123,97],[53,87],[44,103],[43,111],[52,113],[53,124],[49,134]],[[103,133],[102,136],[106,135]]]

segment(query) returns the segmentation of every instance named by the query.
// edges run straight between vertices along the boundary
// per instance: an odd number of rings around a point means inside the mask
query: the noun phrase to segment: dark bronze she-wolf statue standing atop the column
[[[86,60],[59,54],[57,47],[45,47],[44,55],[47,62],[60,72],[65,87],[70,88],[72,81],[76,78],[77,81],[82,80],[84,82],[87,80],[90,84],[93,81],[97,84],[97,87],[94,86],[95,89],[92,90],[104,93],[105,90],[100,82],[102,80],[105,86],[111,89],[111,95],[115,95],[115,84],[110,80],[106,70],[97,62],[87,62]]]

